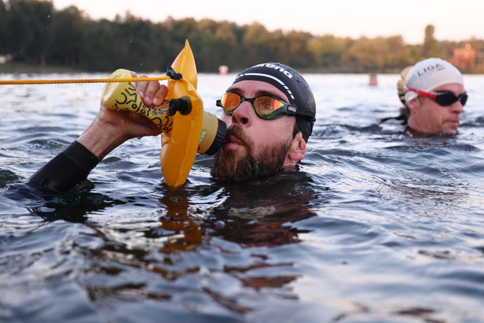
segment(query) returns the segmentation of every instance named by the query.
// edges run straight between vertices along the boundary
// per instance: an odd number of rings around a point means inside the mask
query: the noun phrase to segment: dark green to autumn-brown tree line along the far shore
[[[61,65],[86,71],[166,70],[188,39],[200,72],[219,65],[239,71],[260,62],[281,62],[305,72],[394,72],[427,57],[449,59],[453,48],[484,41],[438,41],[427,26],[423,44],[391,37],[315,36],[268,31],[260,23],[167,18],[154,23],[131,15],[92,20],[75,6],[62,10],[45,0],[0,0],[0,55],[14,62]]]

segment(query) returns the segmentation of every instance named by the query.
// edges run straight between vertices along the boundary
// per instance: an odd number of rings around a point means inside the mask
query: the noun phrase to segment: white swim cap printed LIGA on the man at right
[[[428,58],[412,67],[408,72],[405,83],[410,88],[429,92],[444,84],[459,83],[464,85],[464,80],[459,70],[451,63],[439,58]],[[405,101],[408,103],[417,96],[417,93],[407,91]]]

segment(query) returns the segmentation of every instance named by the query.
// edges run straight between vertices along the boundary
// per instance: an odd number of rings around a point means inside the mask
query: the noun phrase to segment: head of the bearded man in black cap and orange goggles
[[[257,178],[304,158],[316,103],[307,82],[291,67],[264,63],[246,69],[217,105],[224,108],[221,119],[230,143],[213,157],[213,177]]]

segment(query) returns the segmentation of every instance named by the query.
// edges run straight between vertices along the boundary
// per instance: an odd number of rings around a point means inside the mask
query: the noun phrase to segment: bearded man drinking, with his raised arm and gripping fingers
[[[168,93],[158,81],[137,82],[136,89],[147,106],[160,105]],[[316,103],[307,82],[291,67],[263,63],[246,69],[217,106],[223,108],[221,119],[227,124],[230,143],[213,157],[214,178],[254,179],[292,168],[304,158],[316,121]],[[33,174],[28,183],[57,192],[69,191],[86,180],[89,172],[123,142],[160,133],[143,115],[101,107],[81,136]]]

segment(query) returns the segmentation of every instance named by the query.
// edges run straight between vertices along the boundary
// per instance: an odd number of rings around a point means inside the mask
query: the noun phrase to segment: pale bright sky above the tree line
[[[400,34],[409,44],[423,42],[427,24],[439,40],[484,38],[483,0],[53,0],[57,9],[76,5],[93,19],[113,19],[126,11],[153,22],[193,17],[257,21],[270,31],[291,29],[316,35],[358,38]]]

